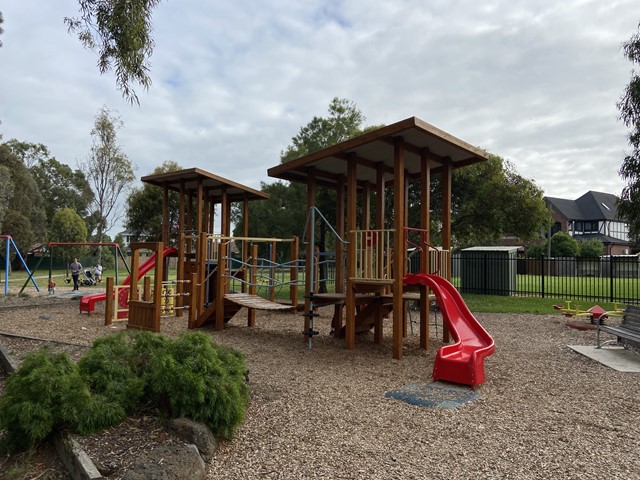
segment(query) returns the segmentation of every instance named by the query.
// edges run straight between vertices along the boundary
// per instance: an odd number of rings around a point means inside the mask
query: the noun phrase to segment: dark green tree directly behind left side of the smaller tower
[[[165,161],[153,171],[153,174],[175,172],[182,167],[171,160]],[[127,213],[125,228],[138,241],[159,241],[162,239],[162,205],[163,192],[161,188],[145,183],[134,190],[127,199]],[[173,233],[171,240],[175,241],[178,232],[180,199],[177,192],[169,192],[169,232]]]

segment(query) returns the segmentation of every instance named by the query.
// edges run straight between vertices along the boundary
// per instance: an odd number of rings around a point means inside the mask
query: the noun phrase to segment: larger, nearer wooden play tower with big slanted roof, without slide
[[[360,327],[373,327],[375,341],[379,342],[383,317],[392,312],[393,357],[401,358],[406,335],[405,304],[412,298],[402,283],[407,274],[408,229],[420,237],[417,248],[424,250],[420,270],[437,271],[449,278],[452,172],[485,160],[487,154],[483,150],[411,117],[270,168],[271,177],[306,184],[309,209],[316,204],[317,187],[337,192],[335,230],[347,239],[347,246],[337,242],[335,292],[310,296],[313,267],[312,262],[307,262],[305,314],[313,315],[314,303],[335,304],[334,328],[344,331],[346,347],[353,349]],[[443,196],[442,245],[438,249],[430,246],[429,238],[430,185],[435,175],[441,177]],[[409,182],[420,185],[420,224],[415,226],[408,225]],[[393,212],[385,212],[385,189],[389,187],[393,192]],[[386,228],[388,224],[392,228]],[[306,236],[311,238],[311,233]],[[308,242],[306,248],[306,258],[313,258],[313,242]],[[346,271],[342,265],[346,265]],[[420,344],[426,349],[429,343],[426,287],[420,287],[418,298]],[[342,315],[346,317],[344,327]]]

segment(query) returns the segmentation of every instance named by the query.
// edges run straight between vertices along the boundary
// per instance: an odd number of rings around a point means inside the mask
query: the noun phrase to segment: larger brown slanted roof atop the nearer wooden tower
[[[412,178],[420,175],[422,152],[429,153],[432,172],[447,163],[458,168],[488,159],[484,150],[419,118],[410,117],[272,167],[268,174],[283,180],[306,182],[309,168],[314,167],[319,185],[335,187],[338,178],[347,175],[347,160],[353,159],[358,163],[358,182],[375,185],[378,165],[383,165],[387,180],[393,176],[394,138],[397,137],[404,139],[405,169]]]

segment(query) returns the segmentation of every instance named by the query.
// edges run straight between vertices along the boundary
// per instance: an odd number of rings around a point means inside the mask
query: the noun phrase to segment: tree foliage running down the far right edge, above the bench
[[[640,64],[640,24],[638,32],[622,45],[624,56],[634,65]],[[620,118],[631,131],[628,135],[631,153],[624,157],[620,176],[627,183],[622,190],[618,214],[629,224],[629,236],[640,242],[640,73],[631,72],[631,80],[618,101]]]

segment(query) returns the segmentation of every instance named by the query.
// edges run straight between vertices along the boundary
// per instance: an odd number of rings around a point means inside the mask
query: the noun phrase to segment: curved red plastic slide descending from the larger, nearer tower
[[[433,291],[455,342],[438,350],[433,379],[471,386],[483,384],[484,359],[495,352],[495,343],[458,290],[445,278],[425,273],[405,276],[404,284],[427,285]]]

